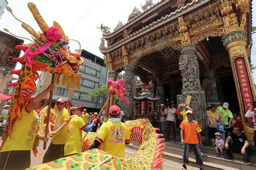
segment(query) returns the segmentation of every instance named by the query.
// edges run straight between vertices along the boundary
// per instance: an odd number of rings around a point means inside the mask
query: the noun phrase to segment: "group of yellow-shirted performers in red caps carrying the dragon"
[[[73,154],[82,153],[82,131],[96,132],[97,137],[91,148],[101,148],[114,157],[124,157],[124,146],[130,143],[130,131],[120,118],[121,109],[112,105],[109,110],[110,118],[103,123],[103,116],[98,117],[97,112],[86,112],[83,106],[73,106],[70,110],[65,108],[66,101],[59,98],[56,102],[57,117],[49,136],[45,137],[38,131],[42,120],[38,112],[43,106],[44,96],[53,90],[54,84],[41,94],[31,98],[22,109],[22,118],[16,119],[12,127],[11,136],[3,141],[0,148],[0,169],[25,169],[30,167],[30,153],[36,139],[47,142],[52,136],[48,150],[44,154],[43,162],[50,162]],[[124,117],[124,113],[121,115]]]

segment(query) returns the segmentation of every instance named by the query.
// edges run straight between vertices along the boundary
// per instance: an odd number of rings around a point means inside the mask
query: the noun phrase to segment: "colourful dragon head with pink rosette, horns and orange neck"
[[[22,118],[22,109],[28,104],[31,95],[36,92],[35,82],[39,78],[37,71],[57,74],[56,82],[60,80],[62,75],[62,82],[66,87],[74,88],[76,84],[76,88],[79,89],[80,74],[77,74],[77,72],[79,65],[84,63],[79,53],[69,51],[68,44],[72,39],[65,35],[62,27],[57,22],[53,22],[53,26],[49,27],[35,4],[28,3],[28,8],[42,32],[33,30],[31,26],[18,19],[9,6],[6,7],[12,16],[22,23],[23,29],[31,34],[32,40],[15,36],[8,29],[4,29],[15,37],[31,41],[30,44],[16,46],[17,49],[24,51],[24,54],[13,60],[20,62],[22,68],[11,71],[11,74],[18,75],[18,80],[9,84],[9,87],[15,87],[15,91],[9,109],[8,123],[5,127],[5,137],[6,135],[10,136],[12,124],[16,118]]]

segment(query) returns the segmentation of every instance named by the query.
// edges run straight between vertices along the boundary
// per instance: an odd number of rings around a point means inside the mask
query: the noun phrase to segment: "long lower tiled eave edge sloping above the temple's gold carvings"
[[[187,12],[188,10],[193,10],[198,8],[199,6],[206,4],[210,2],[210,0],[193,0],[191,3],[187,3],[185,6],[177,9],[174,12],[171,12],[169,15],[163,16],[157,21],[154,21],[153,23],[144,26],[142,29],[134,32],[133,34],[130,34],[129,36],[123,38],[122,40],[117,41],[116,43],[112,44],[111,46],[108,46],[106,48],[99,48],[101,52],[109,52],[113,49],[118,48],[120,45],[124,45],[130,40],[136,39],[137,37],[141,36],[142,34],[149,32],[153,29],[156,29],[157,27],[164,25],[168,22],[170,22],[173,19],[177,19],[178,16],[181,16],[183,13]]]

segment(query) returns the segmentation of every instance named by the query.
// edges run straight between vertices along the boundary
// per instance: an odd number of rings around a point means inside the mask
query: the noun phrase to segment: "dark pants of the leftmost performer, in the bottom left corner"
[[[26,169],[30,167],[31,151],[0,152],[0,170]]]

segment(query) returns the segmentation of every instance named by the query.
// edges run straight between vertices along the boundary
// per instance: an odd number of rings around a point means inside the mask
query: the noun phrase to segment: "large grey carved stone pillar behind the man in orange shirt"
[[[187,43],[181,46],[179,69],[182,75],[183,90],[181,100],[177,102],[185,103],[186,96],[191,95],[190,106],[195,111],[194,118],[205,127],[207,124],[205,93],[201,90],[196,47],[193,44]]]

